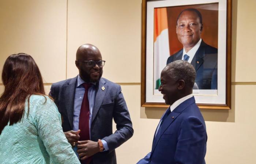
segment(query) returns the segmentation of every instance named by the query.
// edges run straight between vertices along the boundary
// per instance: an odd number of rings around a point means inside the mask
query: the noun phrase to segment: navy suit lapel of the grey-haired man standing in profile
[[[180,114],[191,104],[195,103],[195,98],[191,97],[189,99],[187,99],[186,101],[182,102],[180,105],[177,106],[177,108],[175,108],[173,110],[173,112],[171,112],[169,114],[169,116],[164,120],[162,126],[158,129],[157,135],[154,138],[153,141],[153,145],[152,145],[152,151],[151,151],[151,155],[155,150],[155,147],[158,144],[159,139],[161,138],[161,136],[163,135],[163,133],[165,133],[166,129],[176,120],[176,118],[178,116],[180,116]]]

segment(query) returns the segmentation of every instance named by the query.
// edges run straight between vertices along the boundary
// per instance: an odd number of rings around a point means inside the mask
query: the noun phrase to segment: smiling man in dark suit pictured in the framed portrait
[[[201,13],[194,8],[183,10],[177,18],[176,33],[183,49],[167,59],[186,60],[196,69],[194,89],[217,89],[218,49],[201,39],[203,22]]]

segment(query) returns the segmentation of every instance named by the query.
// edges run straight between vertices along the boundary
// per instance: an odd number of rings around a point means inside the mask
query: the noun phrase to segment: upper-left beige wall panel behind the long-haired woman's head
[[[0,0],[0,73],[7,56],[25,52],[37,62],[45,83],[64,79],[66,20],[63,0]]]

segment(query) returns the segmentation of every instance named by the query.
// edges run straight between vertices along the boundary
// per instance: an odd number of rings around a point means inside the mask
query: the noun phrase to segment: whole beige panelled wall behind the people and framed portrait
[[[232,109],[201,110],[207,164],[256,163],[255,8],[255,0],[233,0]],[[107,61],[103,76],[121,84],[135,131],[116,149],[117,162],[133,164],[150,152],[165,109],[140,107],[141,0],[0,0],[0,36],[0,69],[8,55],[29,53],[47,92],[51,83],[78,73],[81,44],[99,47]]]

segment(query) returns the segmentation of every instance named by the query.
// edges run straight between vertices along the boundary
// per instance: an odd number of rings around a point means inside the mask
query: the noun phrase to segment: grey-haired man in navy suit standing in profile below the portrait
[[[195,76],[194,67],[183,60],[162,70],[159,91],[170,107],[155,131],[151,152],[137,164],[205,164],[207,133],[192,95]]]

